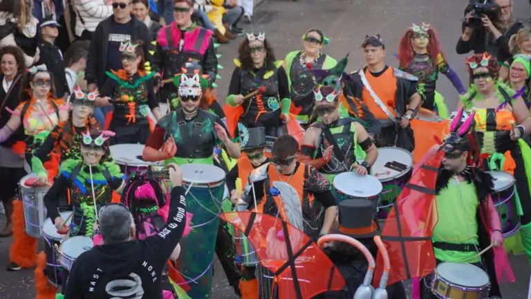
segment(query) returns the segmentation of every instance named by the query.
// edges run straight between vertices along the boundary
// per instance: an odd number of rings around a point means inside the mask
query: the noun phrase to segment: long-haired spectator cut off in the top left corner
[[[19,46],[24,51],[26,67],[39,61],[37,19],[32,0],[0,1],[0,46]]]

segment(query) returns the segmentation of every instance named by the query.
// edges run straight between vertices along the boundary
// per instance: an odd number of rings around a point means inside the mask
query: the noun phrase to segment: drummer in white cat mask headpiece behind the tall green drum
[[[145,161],[213,165],[212,149],[219,144],[230,157],[240,157],[240,147],[228,137],[223,121],[199,107],[205,96],[203,80],[197,73],[176,75],[180,108],[158,121],[142,152]],[[163,150],[159,151],[161,147]]]

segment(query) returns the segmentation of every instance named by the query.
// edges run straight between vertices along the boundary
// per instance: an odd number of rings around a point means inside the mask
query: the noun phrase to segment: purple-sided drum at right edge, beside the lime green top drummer
[[[503,237],[510,237],[520,228],[520,217],[516,209],[516,180],[512,174],[501,171],[488,172],[494,179],[494,194],[491,195],[494,208],[501,219]]]

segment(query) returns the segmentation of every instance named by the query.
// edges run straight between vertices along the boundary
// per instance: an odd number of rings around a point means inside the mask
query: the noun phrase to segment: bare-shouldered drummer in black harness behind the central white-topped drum
[[[306,130],[299,160],[315,167],[329,181],[351,170],[369,174],[378,149],[363,125],[354,118],[339,116],[339,93],[333,87],[320,87],[314,92],[315,111],[321,120]],[[365,154],[361,163],[356,159],[357,145]]]

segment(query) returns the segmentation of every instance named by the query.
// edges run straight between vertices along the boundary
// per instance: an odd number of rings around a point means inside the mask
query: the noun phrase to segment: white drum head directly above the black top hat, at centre
[[[334,178],[334,188],[351,197],[369,199],[382,192],[382,183],[374,176],[343,172]]]

